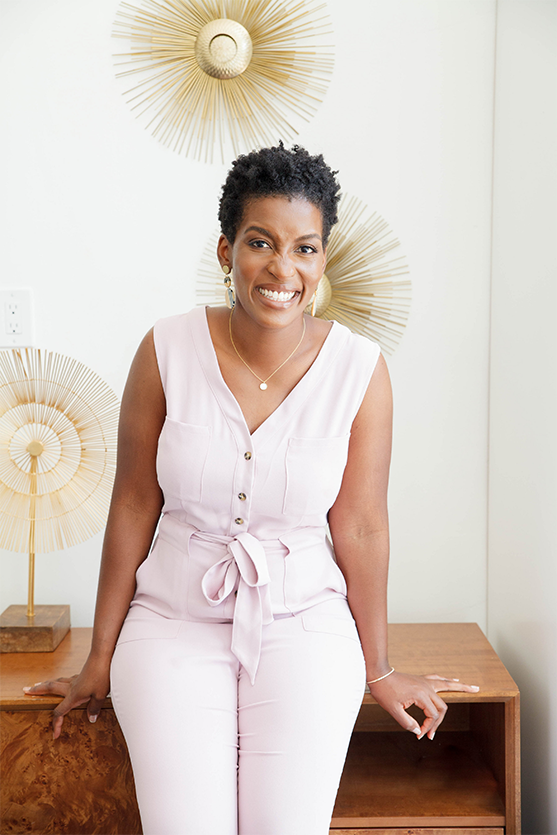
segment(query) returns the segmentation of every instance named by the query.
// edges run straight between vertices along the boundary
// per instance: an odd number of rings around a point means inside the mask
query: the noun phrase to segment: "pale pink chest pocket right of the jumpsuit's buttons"
[[[350,435],[341,438],[290,438],[286,452],[287,515],[327,513],[340,490]]]

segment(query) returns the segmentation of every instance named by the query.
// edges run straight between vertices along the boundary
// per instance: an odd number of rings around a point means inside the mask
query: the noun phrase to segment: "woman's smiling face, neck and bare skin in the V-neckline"
[[[253,429],[307,372],[331,327],[311,318],[308,325],[303,315],[325,269],[321,212],[301,197],[257,197],[234,241],[221,235],[217,251],[234,275],[235,304],[229,316],[209,310],[209,328],[223,377]],[[254,377],[260,391],[273,378],[266,397],[258,397]]]

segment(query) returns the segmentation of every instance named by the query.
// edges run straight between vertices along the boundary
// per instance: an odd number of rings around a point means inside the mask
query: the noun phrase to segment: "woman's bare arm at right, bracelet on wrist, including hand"
[[[329,511],[335,555],[348,589],[360,635],[366,679],[389,672],[387,575],[389,523],[387,486],[391,459],[392,394],[387,366],[379,358],[352,424],[348,461],[337,500]],[[476,687],[440,676],[393,673],[370,685],[374,699],[409,731],[433,739],[447,706],[439,690],[475,692]],[[426,718],[418,725],[406,709],[416,704]]]

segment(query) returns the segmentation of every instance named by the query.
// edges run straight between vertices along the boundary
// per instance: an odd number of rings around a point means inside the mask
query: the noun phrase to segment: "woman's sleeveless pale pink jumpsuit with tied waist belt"
[[[365,684],[327,512],[379,348],[333,323],[250,435],[205,309],[154,333],[163,516],[111,673],[144,835],[326,835]]]

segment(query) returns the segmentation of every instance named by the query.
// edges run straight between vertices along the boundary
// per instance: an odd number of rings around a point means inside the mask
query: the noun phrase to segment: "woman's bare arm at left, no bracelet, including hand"
[[[55,739],[66,713],[87,703],[89,719],[94,722],[108,694],[110,661],[135,593],[135,572],[149,553],[163,504],[155,461],[165,413],[150,331],[133,360],[122,397],[116,478],[103,543],[89,657],[78,676],[26,689],[30,695],[65,695],[54,711]]]

